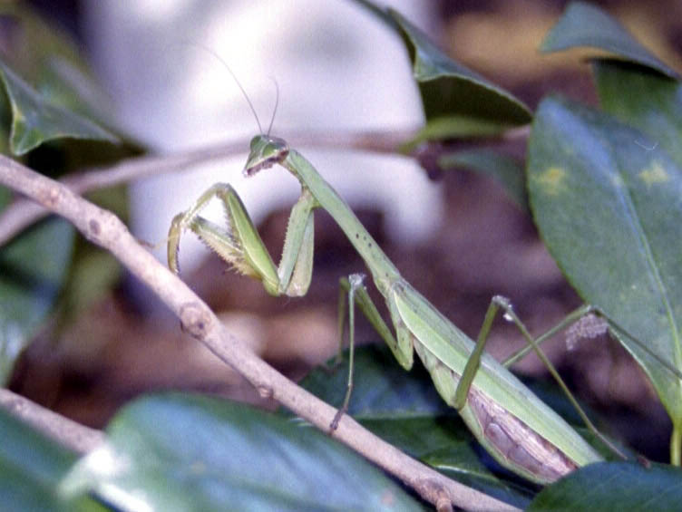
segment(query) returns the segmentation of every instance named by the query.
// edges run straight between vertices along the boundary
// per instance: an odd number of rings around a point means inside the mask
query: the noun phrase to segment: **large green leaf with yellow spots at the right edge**
[[[682,170],[642,132],[579,104],[541,102],[531,130],[529,194],[550,253],[622,334],[682,426]]]

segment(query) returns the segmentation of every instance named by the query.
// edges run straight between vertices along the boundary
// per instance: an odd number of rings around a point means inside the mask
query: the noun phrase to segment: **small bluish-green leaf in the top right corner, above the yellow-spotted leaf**
[[[677,77],[677,72],[650,53],[616,20],[595,5],[571,2],[540,45],[541,52],[560,52],[569,48],[589,46],[619,59],[639,63]]]

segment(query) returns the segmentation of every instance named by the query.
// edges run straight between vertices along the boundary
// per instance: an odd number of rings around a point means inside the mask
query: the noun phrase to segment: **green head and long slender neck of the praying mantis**
[[[265,135],[254,137],[251,140],[251,152],[244,174],[252,176],[258,170],[268,169],[276,163],[296,176],[301,186],[307,188],[317,200],[319,207],[326,209],[334,218],[336,224],[341,227],[348,240],[365,260],[365,265],[372,272],[379,292],[386,295],[390,286],[397,279],[401,279],[400,273],[360,223],[346,201],[329,186],[307,159],[296,150],[289,149],[285,140]],[[377,272],[377,269],[380,271]]]

